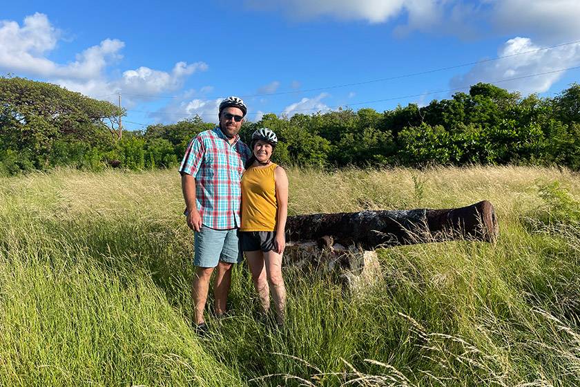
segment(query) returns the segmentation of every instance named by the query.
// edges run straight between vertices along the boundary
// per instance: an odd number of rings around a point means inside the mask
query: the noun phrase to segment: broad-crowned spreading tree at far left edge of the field
[[[0,77],[0,149],[32,158],[35,168],[50,166],[55,142],[111,147],[124,110],[46,82]]]

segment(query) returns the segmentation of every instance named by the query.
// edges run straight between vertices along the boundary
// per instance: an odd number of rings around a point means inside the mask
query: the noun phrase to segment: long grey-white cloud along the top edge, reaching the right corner
[[[490,31],[558,41],[580,35],[577,0],[246,0],[255,10],[282,12],[294,19],[331,17],[385,23],[396,35],[414,30],[462,39]]]

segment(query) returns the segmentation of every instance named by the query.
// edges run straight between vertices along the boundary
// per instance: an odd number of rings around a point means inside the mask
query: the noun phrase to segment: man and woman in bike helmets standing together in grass
[[[220,103],[219,125],[198,134],[186,149],[180,173],[187,225],[194,231],[195,276],[192,285],[195,330],[207,331],[204,309],[213,270],[215,315],[226,312],[231,269],[246,253],[262,312],[267,314],[270,294],[276,322],[284,321],[286,290],[282,280],[284,227],[288,213],[288,178],[271,162],[278,144],[276,134],[262,128],[251,146],[238,132],[247,107],[238,97]]]

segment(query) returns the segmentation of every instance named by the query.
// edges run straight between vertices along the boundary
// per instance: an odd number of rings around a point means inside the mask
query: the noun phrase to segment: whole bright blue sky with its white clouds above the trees
[[[580,75],[578,20],[577,0],[12,1],[0,73],[111,102],[121,93],[128,129],[215,121],[228,95],[250,120],[383,111],[514,78],[498,86],[559,93]]]

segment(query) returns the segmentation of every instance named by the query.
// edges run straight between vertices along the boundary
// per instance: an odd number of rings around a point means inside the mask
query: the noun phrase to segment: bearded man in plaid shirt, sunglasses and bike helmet
[[[186,149],[180,173],[187,225],[194,231],[195,276],[191,295],[195,329],[207,332],[204,308],[215,267],[215,315],[226,312],[233,263],[240,262],[240,179],[251,151],[238,132],[247,107],[238,97],[220,103],[219,126],[198,134]]]

